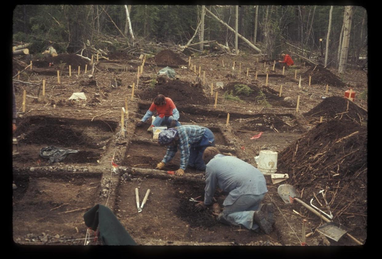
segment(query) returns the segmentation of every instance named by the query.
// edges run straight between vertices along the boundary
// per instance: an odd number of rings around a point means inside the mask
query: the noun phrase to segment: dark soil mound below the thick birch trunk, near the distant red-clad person
[[[309,76],[311,76],[311,84],[314,85],[330,85],[335,87],[344,87],[346,84],[341,81],[335,74],[321,65],[311,66],[302,77],[306,82],[309,82]]]

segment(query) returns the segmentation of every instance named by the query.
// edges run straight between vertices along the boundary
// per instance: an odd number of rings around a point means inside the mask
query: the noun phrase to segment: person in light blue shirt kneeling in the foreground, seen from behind
[[[203,153],[206,163],[206,188],[204,202],[196,204],[196,211],[212,205],[217,187],[228,193],[224,209],[218,220],[224,224],[242,225],[260,229],[269,234],[274,223],[272,203],[261,204],[268,192],[264,175],[254,166],[234,156],[225,156],[215,147]]]

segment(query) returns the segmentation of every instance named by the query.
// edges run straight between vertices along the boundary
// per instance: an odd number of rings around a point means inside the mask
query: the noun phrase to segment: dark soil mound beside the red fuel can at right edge
[[[349,109],[346,111],[348,100],[343,97],[332,96],[324,99],[319,105],[304,113],[304,116],[330,117],[362,122],[367,120],[367,112],[349,101]]]

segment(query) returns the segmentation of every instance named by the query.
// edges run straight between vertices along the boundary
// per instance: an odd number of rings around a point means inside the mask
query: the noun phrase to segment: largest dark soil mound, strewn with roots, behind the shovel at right
[[[304,188],[305,200],[314,198],[313,193],[317,194],[321,189],[327,190],[325,196],[334,221],[339,219],[344,224],[349,220],[354,223],[355,220],[359,227],[365,226],[366,127],[339,120],[318,124],[283,150],[279,158],[277,167],[280,173],[288,173],[290,178],[287,183],[300,192]],[[354,217],[348,219],[349,215]]]

